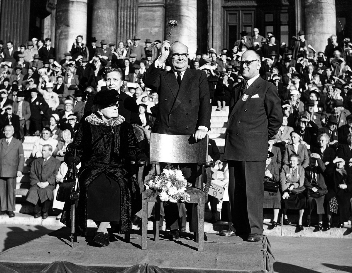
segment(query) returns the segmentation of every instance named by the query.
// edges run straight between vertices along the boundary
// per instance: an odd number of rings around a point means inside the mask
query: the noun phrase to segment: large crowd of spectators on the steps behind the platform
[[[12,125],[14,137],[22,141],[26,135],[41,136],[32,157],[43,158],[45,146],[51,147],[46,155],[62,161],[87,99],[105,88],[100,71],[107,65],[124,71],[123,92],[136,100],[141,125],[151,130],[158,95],[146,88],[142,78],[161,45],[160,40],[150,39],[143,45],[138,37],[117,46],[92,37],[86,44],[77,36],[70,52],[57,56],[50,38],[33,38],[17,49],[11,41],[6,46],[0,41],[0,131]],[[287,209],[300,211],[300,230],[305,209],[310,226],[310,214],[316,208],[317,230],[328,230],[334,213],[339,215],[338,227],[351,215],[352,43],[348,38],[338,42],[332,35],[324,52],[316,52],[314,46],[303,31],[289,44],[278,44],[271,32],[263,37],[254,28],[253,34],[242,31],[233,48],[197,51],[189,61],[191,69],[206,71],[212,104],[224,111],[232,87],[243,81],[241,55],[253,49],[262,56],[260,76],[277,87],[284,114],[278,134],[270,141],[265,172],[266,182],[278,184],[277,193],[265,192],[264,207],[274,209],[273,227],[281,208],[284,224],[288,224]],[[171,70],[168,61],[163,70]],[[308,194],[317,191],[318,197]],[[324,215],[328,221],[323,228]]]

